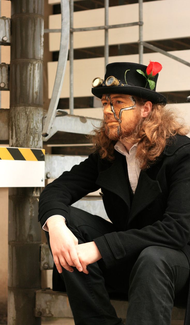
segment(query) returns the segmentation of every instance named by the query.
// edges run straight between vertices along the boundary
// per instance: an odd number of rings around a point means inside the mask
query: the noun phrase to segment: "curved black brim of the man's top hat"
[[[102,98],[104,94],[124,94],[124,95],[135,95],[143,99],[150,100],[154,104],[166,105],[167,99],[164,95],[157,93],[154,90],[142,88],[139,86],[102,86],[92,88],[92,93],[98,98]]]

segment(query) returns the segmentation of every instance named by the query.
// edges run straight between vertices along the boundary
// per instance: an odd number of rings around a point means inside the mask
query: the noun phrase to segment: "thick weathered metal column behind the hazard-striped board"
[[[11,147],[42,148],[43,15],[43,0],[11,1]],[[41,324],[34,317],[41,288],[39,194],[40,188],[9,190],[8,325]]]

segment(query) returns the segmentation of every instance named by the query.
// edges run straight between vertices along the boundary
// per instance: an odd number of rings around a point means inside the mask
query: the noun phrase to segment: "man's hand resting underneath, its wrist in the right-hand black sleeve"
[[[102,258],[94,241],[76,245],[76,251],[82,265],[82,272],[86,274],[88,274],[86,266]]]

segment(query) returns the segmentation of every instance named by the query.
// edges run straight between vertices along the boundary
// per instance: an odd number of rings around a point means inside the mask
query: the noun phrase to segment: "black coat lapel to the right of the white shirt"
[[[135,217],[135,215],[154,201],[161,192],[162,190],[158,181],[151,179],[147,175],[146,171],[141,171],[131,205],[129,222]]]

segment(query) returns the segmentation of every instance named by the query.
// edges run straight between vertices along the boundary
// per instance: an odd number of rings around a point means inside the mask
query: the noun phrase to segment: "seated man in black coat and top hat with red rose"
[[[170,325],[173,300],[187,299],[190,139],[156,92],[160,70],[108,64],[105,79],[93,80],[104,109],[95,153],[40,197],[53,289],[65,284],[77,325],[121,325],[116,296],[129,300],[127,325]],[[71,207],[99,188],[112,223]]]

